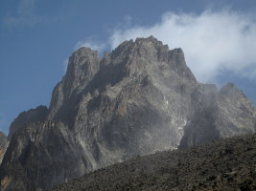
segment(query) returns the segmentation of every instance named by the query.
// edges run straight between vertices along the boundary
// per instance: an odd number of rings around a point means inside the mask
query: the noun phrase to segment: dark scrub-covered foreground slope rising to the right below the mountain
[[[256,190],[256,135],[117,163],[52,191]]]

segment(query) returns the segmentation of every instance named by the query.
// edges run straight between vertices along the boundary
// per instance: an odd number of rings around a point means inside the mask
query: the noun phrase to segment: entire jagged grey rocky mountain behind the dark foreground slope
[[[14,119],[0,166],[4,190],[44,190],[135,156],[254,133],[256,109],[235,85],[201,84],[181,49],[154,37],[100,58],[69,58],[49,109]]]

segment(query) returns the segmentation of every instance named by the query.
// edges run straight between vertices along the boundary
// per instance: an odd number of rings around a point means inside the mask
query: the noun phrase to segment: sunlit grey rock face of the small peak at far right
[[[234,84],[228,83],[218,95],[217,126],[221,138],[248,134],[256,129],[256,110],[250,100]]]

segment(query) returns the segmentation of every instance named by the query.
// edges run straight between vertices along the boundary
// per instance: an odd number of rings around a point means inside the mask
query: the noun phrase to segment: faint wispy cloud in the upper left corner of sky
[[[34,26],[43,18],[35,13],[36,0],[20,0],[15,15],[5,17],[4,23],[9,27],[19,25]]]

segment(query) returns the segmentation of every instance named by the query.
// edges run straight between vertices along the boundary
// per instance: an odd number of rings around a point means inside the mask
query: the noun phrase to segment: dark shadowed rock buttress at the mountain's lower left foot
[[[0,171],[0,176],[5,175],[3,180],[12,182],[8,190],[36,190],[85,172],[80,147],[73,137],[66,125],[52,121],[31,123],[14,134],[2,162],[7,168]]]

